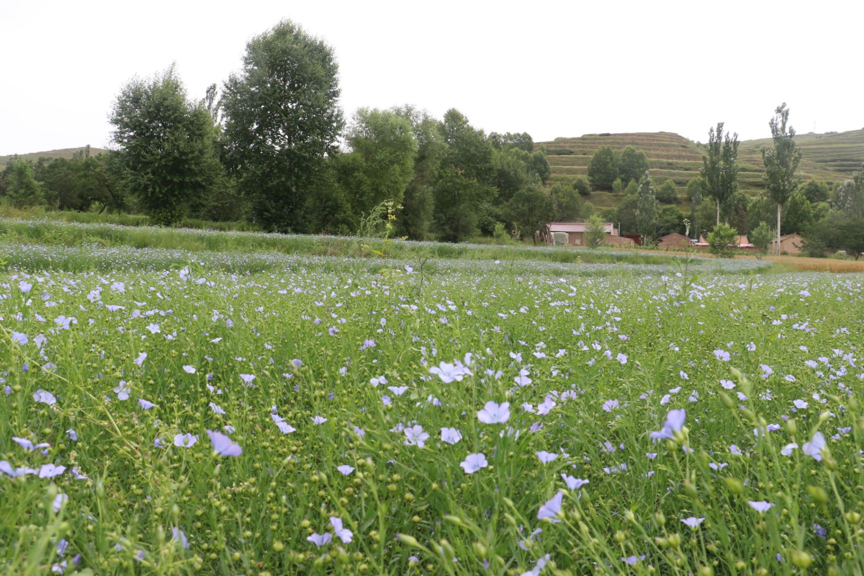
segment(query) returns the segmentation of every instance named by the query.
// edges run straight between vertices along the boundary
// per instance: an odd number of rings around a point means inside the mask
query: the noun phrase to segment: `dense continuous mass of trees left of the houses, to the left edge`
[[[486,135],[460,111],[409,105],[346,120],[339,97],[333,49],[283,21],[204,98],[187,95],[174,66],[131,79],[111,109],[110,154],[12,161],[0,187],[16,206],[131,209],[160,225],[247,218],[267,231],[355,234],[390,212],[399,236],[454,242],[496,227],[530,236],[579,204],[573,193],[553,200],[546,151],[527,133]]]

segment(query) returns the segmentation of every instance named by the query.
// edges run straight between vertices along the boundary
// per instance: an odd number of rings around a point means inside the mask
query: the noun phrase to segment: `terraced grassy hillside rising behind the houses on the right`
[[[840,182],[864,162],[864,130],[836,134],[802,134],[796,136],[804,151],[798,167],[804,180]],[[699,175],[705,145],[692,142],[672,132],[636,132],[630,134],[588,134],[578,138],[556,138],[553,142],[538,142],[549,150],[552,181],[572,181],[588,175],[588,162],[600,146],[620,150],[626,146],[644,150],[651,163],[651,176],[658,183],[672,179],[684,203],[684,187],[690,178]],[[739,184],[744,193],[762,190],[762,155],[759,147],[770,144],[771,138],[740,142]],[[614,206],[621,194],[594,192],[591,203],[598,207]],[[684,207],[684,206],[682,206]]]

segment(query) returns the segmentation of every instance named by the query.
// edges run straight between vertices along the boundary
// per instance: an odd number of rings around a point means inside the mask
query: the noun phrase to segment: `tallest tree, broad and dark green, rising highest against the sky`
[[[229,166],[270,230],[307,231],[344,126],[333,49],[284,20],[246,44],[222,97]]]

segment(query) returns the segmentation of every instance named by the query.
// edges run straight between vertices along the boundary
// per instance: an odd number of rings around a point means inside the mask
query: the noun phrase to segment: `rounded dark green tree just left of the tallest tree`
[[[176,224],[222,170],[213,120],[187,99],[174,66],[124,85],[111,123],[129,191],[156,224]]]

